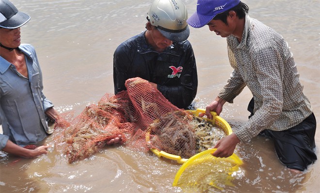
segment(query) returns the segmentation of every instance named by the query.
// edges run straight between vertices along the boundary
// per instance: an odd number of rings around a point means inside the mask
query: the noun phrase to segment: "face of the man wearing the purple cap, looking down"
[[[220,35],[221,37],[227,37],[231,35],[234,31],[234,28],[232,27],[232,25],[230,25],[229,22],[228,25],[226,25],[222,20],[212,19],[207,25],[211,32],[215,32],[217,35]]]

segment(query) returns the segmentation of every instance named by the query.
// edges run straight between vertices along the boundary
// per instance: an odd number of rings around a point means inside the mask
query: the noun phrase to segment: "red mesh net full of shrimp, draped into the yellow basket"
[[[174,106],[147,80],[132,78],[125,85],[127,91],[106,94],[77,117],[65,113],[56,120],[56,146],[70,163],[88,158],[119,135],[128,148],[158,149],[182,158],[208,149],[226,135]]]

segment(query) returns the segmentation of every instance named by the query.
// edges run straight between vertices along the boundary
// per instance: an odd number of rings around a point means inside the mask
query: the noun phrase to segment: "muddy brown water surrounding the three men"
[[[113,93],[114,49],[129,37],[144,31],[151,0],[12,0],[32,19],[21,28],[22,43],[37,51],[44,76],[44,93],[64,113],[80,113],[87,104]],[[189,16],[196,0],[184,0]],[[249,15],[288,41],[294,55],[304,93],[320,122],[320,3],[319,0],[244,0]],[[207,27],[191,28],[189,37],[197,61],[199,87],[197,107],[205,108],[224,86],[232,68],[228,64],[224,38]],[[248,89],[226,104],[221,116],[237,129],[245,122],[251,99]],[[318,124],[319,126],[319,124]],[[318,129],[319,130],[319,129]],[[51,136],[44,142],[53,144]],[[317,155],[320,132],[316,132]],[[243,160],[241,175],[227,193],[318,192],[320,163],[316,161],[300,175],[291,174],[277,159],[272,142],[256,137],[239,144]],[[151,152],[135,152],[125,145],[103,149],[89,159],[67,163],[54,146],[49,154],[20,159],[0,154],[0,192],[132,192],[178,193],[172,187],[181,165],[158,158]]]

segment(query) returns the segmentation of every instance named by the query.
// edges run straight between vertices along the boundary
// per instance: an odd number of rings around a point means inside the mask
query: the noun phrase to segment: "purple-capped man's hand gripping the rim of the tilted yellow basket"
[[[213,147],[217,148],[217,150],[212,155],[219,158],[227,158],[233,154],[236,145],[239,142],[239,138],[232,133],[218,141],[218,143]]]

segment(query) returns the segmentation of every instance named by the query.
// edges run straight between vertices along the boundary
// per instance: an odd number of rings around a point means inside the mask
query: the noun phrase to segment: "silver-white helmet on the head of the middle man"
[[[171,41],[182,42],[189,37],[190,30],[186,22],[188,12],[181,0],[153,1],[147,18],[151,25],[156,26]]]

